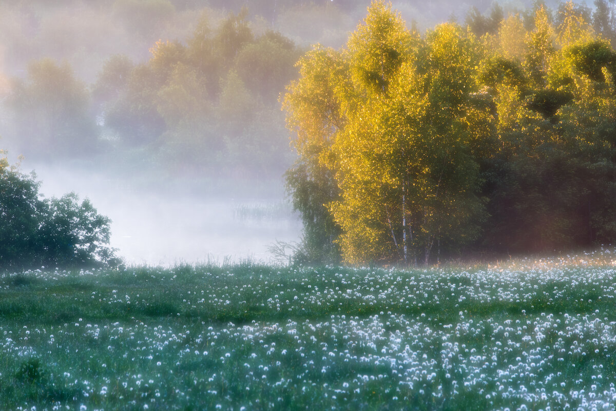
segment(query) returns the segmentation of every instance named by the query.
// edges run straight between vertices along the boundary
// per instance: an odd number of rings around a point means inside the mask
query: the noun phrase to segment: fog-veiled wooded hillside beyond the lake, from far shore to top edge
[[[279,97],[295,63],[312,43],[341,46],[367,5],[2,4],[0,147],[161,180],[277,179],[294,160]]]

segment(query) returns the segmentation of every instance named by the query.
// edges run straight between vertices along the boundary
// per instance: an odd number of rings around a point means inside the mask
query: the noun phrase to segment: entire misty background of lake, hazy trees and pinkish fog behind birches
[[[279,97],[310,45],[341,47],[368,4],[2,2],[0,149],[25,156],[45,196],[91,199],[128,263],[267,262],[301,236]],[[492,2],[392,5],[424,31]]]

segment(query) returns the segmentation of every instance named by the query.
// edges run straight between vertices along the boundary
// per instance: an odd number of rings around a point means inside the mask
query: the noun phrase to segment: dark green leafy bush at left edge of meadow
[[[35,175],[0,168],[0,268],[110,266],[110,220],[71,193],[40,199]]]

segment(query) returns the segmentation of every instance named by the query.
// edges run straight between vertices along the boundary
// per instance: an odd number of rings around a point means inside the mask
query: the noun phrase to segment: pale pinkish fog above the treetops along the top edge
[[[393,0],[410,24],[421,30],[464,16],[475,6],[485,12],[490,0]],[[506,9],[532,6],[532,0],[498,1]],[[556,7],[558,1],[545,3]],[[296,44],[320,42],[340,47],[363,17],[370,0],[15,0],[0,4],[0,69],[23,75],[30,60],[52,57],[67,60],[79,78],[93,82],[102,63],[111,55],[126,54],[144,62],[159,39],[188,39],[201,17],[210,26],[221,22],[229,11],[248,7],[251,28],[256,33],[280,31]],[[582,4],[592,6],[590,0]]]

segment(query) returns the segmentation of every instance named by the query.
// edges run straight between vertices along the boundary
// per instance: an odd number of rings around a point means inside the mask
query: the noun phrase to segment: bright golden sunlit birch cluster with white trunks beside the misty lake
[[[340,189],[329,210],[344,259],[428,260],[437,238],[476,236],[482,201],[471,153],[487,117],[470,97],[472,39],[448,24],[423,41],[374,2],[337,57],[345,63],[334,56],[307,54],[285,102],[302,159],[330,170]]]

